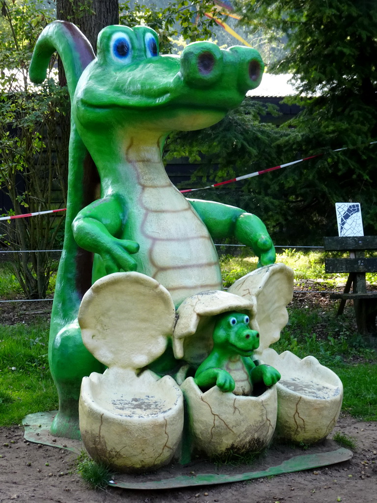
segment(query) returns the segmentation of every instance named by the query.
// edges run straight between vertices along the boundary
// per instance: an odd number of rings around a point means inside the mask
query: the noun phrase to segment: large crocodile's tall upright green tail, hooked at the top
[[[65,70],[71,100],[84,68],[95,58],[93,49],[80,30],[66,21],[54,21],[40,34],[30,63],[29,76],[35,83],[46,78],[51,55],[57,51]],[[97,167],[71,117],[69,140],[68,194],[64,250],[59,263],[51,315],[51,344],[56,333],[77,316],[82,295],[91,285],[92,256],[79,248],[73,238],[72,221],[95,199]]]

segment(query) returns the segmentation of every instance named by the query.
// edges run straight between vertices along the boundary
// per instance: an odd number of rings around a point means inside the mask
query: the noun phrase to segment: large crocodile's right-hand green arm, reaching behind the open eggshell
[[[187,199],[199,214],[213,239],[235,237],[250,246],[259,258],[258,267],[275,262],[275,248],[264,223],[252,213],[214,201]]]

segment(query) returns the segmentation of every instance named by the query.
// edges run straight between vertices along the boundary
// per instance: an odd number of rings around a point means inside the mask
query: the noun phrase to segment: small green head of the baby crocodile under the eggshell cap
[[[216,321],[213,341],[214,347],[251,356],[259,347],[259,333],[249,327],[249,316],[239,312],[227,312]]]

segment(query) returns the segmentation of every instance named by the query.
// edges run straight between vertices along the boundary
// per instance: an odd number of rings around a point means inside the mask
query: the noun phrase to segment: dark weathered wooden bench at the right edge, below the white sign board
[[[325,237],[324,242],[326,251],[349,251],[349,258],[325,259],[327,274],[349,273],[343,293],[330,294],[330,299],[341,299],[337,314],[353,300],[358,331],[377,334],[377,292],[367,291],[365,281],[365,273],[377,272],[377,258],[365,258],[366,250],[377,250],[377,236]]]

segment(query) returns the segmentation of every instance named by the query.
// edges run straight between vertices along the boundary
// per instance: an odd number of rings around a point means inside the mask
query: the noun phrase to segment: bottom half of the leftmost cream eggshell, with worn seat
[[[183,429],[183,397],[170,376],[93,372],[82,381],[79,417],[93,459],[122,472],[145,471],[173,457]]]

